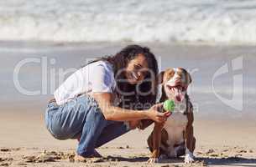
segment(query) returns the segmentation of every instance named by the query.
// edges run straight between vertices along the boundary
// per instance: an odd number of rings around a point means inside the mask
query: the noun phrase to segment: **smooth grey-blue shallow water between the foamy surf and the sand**
[[[0,113],[11,111],[44,113],[49,99],[53,98],[55,89],[62,83],[58,73],[60,70],[81,68],[91,58],[117,53],[127,44],[0,43],[2,60],[0,61]],[[144,45],[151,48],[155,54],[160,70],[184,67],[191,73],[192,83],[188,94],[194,104],[196,119],[256,118],[256,48],[254,46],[155,43]],[[33,61],[29,58],[33,58]],[[19,66],[24,61],[28,62]],[[227,67],[227,70],[222,70],[222,73],[214,77],[223,67]],[[65,78],[71,73],[66,73]],[[18,77],[18,83],[15,82],[15,76]],[[39,93],[27,94],[24,89]]]

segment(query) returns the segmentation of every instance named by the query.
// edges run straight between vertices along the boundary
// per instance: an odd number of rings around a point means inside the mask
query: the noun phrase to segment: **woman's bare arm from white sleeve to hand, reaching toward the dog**
[[[155,104],[147,110],[122,109],[112,104],[112,94],[95,93],[92,97],[97,100],[102,114],[107,120],[129,121],[138,119],[153,119],[155,122],[165,122],[170,116],[170,112],[159,113],[158,109],[162,104]]]

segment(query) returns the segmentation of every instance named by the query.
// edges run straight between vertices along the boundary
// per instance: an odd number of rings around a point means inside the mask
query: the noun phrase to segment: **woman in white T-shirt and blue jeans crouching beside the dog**
[[[158,65],[149,48],[130,45],[73,73],[55,91],[45,123],[55,139],[79,139],[80,158],[134,129],[141,119],[164,122],[155,104]],[[151,108],[149,108],[152,106]]]

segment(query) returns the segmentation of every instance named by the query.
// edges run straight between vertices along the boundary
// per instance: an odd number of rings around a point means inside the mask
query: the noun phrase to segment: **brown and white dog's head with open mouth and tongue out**
[[[184,68],[169,68],[159,73],[158,82],[163,86],[165,98],[181,102],[185,98],[186,89],[192,79],[191,74]]]

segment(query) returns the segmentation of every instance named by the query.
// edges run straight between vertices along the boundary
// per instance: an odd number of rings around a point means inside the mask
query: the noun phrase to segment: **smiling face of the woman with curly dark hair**
[[[148,71],[148,62],[144,57],[144,54],[138,54],[136,58],[133,58],[125,70],[125,77],[128,79],[128,83],[137,84],[144,80]]]

